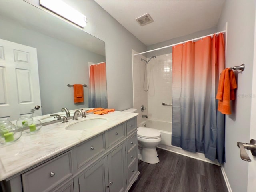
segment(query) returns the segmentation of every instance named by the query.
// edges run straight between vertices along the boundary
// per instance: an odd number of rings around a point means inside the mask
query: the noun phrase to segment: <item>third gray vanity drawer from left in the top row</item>
[[[120,124],[106,132],[106,148],[124,138],[124,124]]]

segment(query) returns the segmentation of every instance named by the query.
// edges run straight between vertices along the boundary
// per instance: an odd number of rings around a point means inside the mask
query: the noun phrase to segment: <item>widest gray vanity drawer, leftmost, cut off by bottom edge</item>
[[[43,192],[72,177],[71,152],[62,154],[24,174],[24,192]]]

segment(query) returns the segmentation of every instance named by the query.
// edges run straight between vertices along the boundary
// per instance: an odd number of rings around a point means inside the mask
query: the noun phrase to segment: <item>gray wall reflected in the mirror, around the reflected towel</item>
[[[88,84],[88,62],[105,61],[105,56],[28,30],[19,23],[0,17],[0,38],[37,48],[42,114],[88,107],[88,88],[84,102],[74,104],[73,88],[67,84]]]

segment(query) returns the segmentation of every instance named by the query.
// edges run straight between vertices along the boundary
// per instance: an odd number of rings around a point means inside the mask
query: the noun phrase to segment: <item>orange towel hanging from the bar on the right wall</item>
[[[230,100],[235,100],[235,91],[237,88],[234,72],[230,68],[224,69],[220,74],[218,92],[216,99],[218,102],[218,111],[222,114],[230,115]]]

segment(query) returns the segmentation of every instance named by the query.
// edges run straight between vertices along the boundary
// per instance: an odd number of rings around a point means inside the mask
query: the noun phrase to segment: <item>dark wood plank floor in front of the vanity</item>
[[[129,192],[228,192],[220,166],[157,149],[160,162],[139,161]]]

